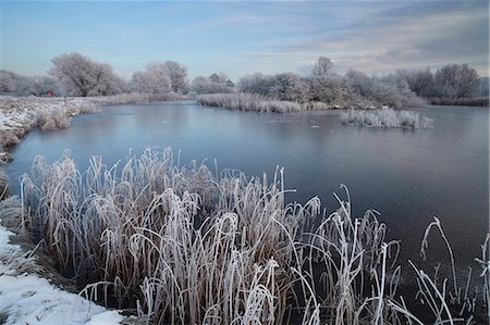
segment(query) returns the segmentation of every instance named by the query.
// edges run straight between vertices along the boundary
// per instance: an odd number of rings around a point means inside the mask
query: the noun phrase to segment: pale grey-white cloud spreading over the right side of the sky
[[[280,40],[250,54],[289,57],[297,65],[327,55],[338,68],[371,72],[465,62],[488,73],[488,3],[387,3],[360,7],[354,15],[362,22],[348,16],[353,23],[340,30]]]

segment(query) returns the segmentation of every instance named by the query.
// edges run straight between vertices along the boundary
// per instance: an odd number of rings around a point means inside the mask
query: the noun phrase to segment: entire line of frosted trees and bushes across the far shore
[[[308,76],[295,73],[242,77],[236,85],[224,73],[188,80],[187,70],[174,61],[151,62],[130,79],[117,75],[106,63],[79,53],[53,58],[47,76],[26,77],[0,71],[0,92],[19,96],[109,96],[119,93],[193,95],[247,92],[270,100],[301,104],[323,103],[330,108],[406,108],[424,103],[488,105],[488,77],[479,77],[467,64],[448,64],[436,72],[399,70],[370,76],[348,70],[332,71],[330,59],[320,57]]]

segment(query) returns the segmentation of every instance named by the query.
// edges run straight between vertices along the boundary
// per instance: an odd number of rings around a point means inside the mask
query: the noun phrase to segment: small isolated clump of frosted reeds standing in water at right
[[[344,124],[381,128],[426,128],[432,125],[432,120],[409,111],[381,110],[348,110],[341,113]]]

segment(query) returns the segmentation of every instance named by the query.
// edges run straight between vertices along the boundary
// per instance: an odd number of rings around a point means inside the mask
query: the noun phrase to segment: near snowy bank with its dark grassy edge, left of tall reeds
[[[121,324],[125,318],[70,290],[37,247],[7,227],[22,215],[16,198],[0,201],[0,324]],[[46,258],[45,258],[46,259]]]

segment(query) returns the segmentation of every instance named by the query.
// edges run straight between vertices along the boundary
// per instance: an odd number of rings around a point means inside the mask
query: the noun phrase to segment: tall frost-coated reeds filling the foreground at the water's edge
[[[353,217],[345,187],[331,214],[318,198],[286,203],[283,185],[279,168],[216,175],[176,165],[170,149],[113,166],[93,158],[84,172],[65,152],[37,158],[21,193],[25,227],[83,293],[146,323],[416,324],[378,213]],[[448,323],[445,285],[414,268]]]

